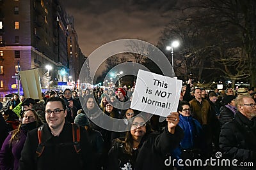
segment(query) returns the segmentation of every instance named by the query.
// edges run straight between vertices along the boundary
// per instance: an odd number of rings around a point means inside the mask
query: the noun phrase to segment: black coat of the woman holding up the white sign
[[[118,170],[122,168],[131,167],[136,170],[145,169],[170,169],[164,165],[166,155],[174,148],[179,146],[181,139],[184,137],[184,132],[177,125],[175,133],[170,134],[167,127],[164,131],[159,133],[151,133],[145,135],[141,139],[138,150],[134,150],[132,155],[124,153],[122,144],[114,145],[109,150],[109,164],[107,169]]]

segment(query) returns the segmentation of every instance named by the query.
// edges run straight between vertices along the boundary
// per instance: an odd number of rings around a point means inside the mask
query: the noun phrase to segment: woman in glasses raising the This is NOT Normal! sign
[[[177,126],[178,113],[166,118],[167,125],[159,134],[152,132],[149,124],[140,115],[129,122],[129,131],[124,140],[116,139],[108,153],[107,169],[163,169],[166,153],[179,145],[183,137]]]

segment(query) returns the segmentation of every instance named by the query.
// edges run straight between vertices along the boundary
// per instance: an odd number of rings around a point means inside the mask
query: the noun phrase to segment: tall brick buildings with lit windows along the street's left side
[[[22,93],[19,71],[38,69],[43,91],[56,90],[73,75],[78,80],[84,57],[67,22],[60,0],[0,1],[0,97]]]

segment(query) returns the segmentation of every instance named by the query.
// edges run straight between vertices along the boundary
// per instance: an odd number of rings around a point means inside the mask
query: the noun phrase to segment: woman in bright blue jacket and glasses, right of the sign
[[[179,126],[184,131],[184,138],[172,155],[175,159],[196,159],[200,156],[204,147],[202,127],[195,118],[192,118],[190,104],[187,101],[180,101],[178,112],[180,118]],[[181,168],[178,166],[177,169]],[[191,169],[191,167],[182,167],[182,169]]]

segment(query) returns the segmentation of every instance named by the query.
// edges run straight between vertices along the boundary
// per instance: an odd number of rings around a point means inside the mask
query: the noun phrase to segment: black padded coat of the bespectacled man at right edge
[[[223,125],[220,132],[220,149],[225,159],[253,162],[253,167],[232,167],[233,169],[256,169],[256,118],[248,120],[237,112],[235,118]]]

